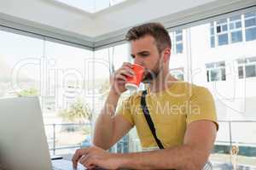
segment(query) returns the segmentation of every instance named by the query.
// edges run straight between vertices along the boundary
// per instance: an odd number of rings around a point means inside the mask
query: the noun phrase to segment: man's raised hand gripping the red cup
[[[126,77],[133,77],[135,75],[132,70],[131,63],[123,63],[119,70],[115,71],[110,78],[111,90],[115,94],[123,94],[126,91],[125,83],[127,82]]]

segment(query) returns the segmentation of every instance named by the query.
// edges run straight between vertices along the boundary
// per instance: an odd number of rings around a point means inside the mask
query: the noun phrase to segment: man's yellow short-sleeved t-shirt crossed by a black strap
[[[157,147],[141,109],[142,92],[123,101],[118,114],[137,127],[143,148]],[[160,93],[146,95],[148,111],[154,122],[156,135],[165,148],[183,144],[186,127],[190,122],[209,120],[216,123],[215,105],[207,88],[189,82],[173,82]]]

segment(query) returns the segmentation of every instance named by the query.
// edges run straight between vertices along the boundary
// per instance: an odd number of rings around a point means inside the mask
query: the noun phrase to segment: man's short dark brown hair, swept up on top
[[[159,53],[165,48],[172,48],[171,38],[166,28],[160,23],[151,22],[132,27],[126,34],[125,39],[129,42],[145,36],[152,36],[156,42]]]

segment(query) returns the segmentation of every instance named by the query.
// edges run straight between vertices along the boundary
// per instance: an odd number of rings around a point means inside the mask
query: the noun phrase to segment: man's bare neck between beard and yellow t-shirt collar
[[[160,71],[159,75],[149,84],[150,92],[158,93],[160,91],[166,90],[172,86],[174,81],[177,81],[176,78],[172,77],[172,75],[168,71]]]

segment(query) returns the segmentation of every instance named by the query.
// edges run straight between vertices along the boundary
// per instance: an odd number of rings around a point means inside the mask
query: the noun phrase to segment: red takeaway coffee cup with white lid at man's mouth
[[[140,82],[143,80],[144,67],[142,65],[133,64],[131,66],[132,70],[135,73],[134,77],[126,77],[127,82],[125,88],[131,91],[137,91],[137,88],[140,85]]]

